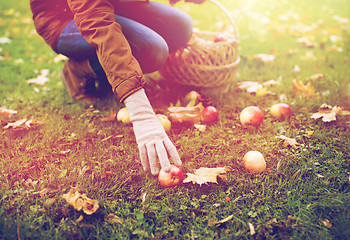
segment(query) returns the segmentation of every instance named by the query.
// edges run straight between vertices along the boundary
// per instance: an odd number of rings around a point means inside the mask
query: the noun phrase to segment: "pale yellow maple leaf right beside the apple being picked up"
[[[203,183],[218,183],[217,177],[221,174],[231,171],[228,167],[206,168],[201,167],[193,173],[187,173],[187,178],[184,183],[192,182],[193,184],[202,185]]]

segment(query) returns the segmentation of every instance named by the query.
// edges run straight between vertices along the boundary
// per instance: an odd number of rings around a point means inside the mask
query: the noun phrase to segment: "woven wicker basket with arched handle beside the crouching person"
[[[233,34],[222,33],[225,41],[214,42],[221,33],[196,31],[187,46],[169,55],[159,73],[181,85],[219,89],[225,92],[233,82],[239,64],[237,26],[226,8],[216,0],[233,25]]]

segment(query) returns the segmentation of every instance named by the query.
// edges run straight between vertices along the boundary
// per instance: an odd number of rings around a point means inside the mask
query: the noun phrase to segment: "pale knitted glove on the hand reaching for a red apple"
[[[153,112],[145,91],[140,89],[133,93],[124,100],[124,104],[134,128],[143,169],[151,170],[153,175],[159,173],[160,167],[169,171],[169,159],[180,166],[180,156]]]

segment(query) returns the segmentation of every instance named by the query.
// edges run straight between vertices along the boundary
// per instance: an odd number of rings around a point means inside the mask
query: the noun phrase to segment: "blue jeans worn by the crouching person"
[[[128,2],[118,4],[116,9],[116,22],[144,73],[158,70],[169,52],[184,46],[192,36],[190,16],[175,7],[157,2]],[[97,74],[103,72],[95,49],[82,37],[74,20],[62,31],[57,49],[69,58],[89,58],[93,70]]]

